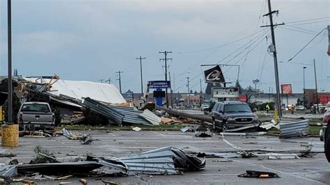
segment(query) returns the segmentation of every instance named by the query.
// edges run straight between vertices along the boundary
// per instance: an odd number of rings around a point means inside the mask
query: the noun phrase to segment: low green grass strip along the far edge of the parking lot
[[[131,125],[107,125],[107,126],[91,126],[91,125],[62,125],[60,129],[70,129],[70,130],[97,130],[97,131],[128,131],[132,130],[133,127],[140,127],[145,131],[179,131],[182,127],[185,127],[183,124],[159,124],[157,126],[148,126],[143,124],[131,124]]]

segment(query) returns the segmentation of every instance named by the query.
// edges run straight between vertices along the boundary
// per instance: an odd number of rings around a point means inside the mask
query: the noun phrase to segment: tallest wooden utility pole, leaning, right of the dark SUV
[[[278,64],[277,64],[277,53],[276,53],[276,45],[275,45],[275,35],[274,35],[274,26],[279,26],[283,25],[282,24],[273,24],[273,13],[278,13],[278,10],[272,11],[272,6],[270,4],[270,0],[268,1],[268,10],[269,13],[263,15],[263,16],[269,16],[269,22],[270,25],[265,25],[265,26],[270,26],[270,30],[272,32],[272,45],[271,45],[271,52],[273,52],[274,56],[274,70],[275,70],[275,83],[276,83],[276,106],[278,109],[278,117],[282,117],[282,109],[281,109],[281,94],[280,94],[280,83],[278,80]],[[265,27],[265,26],[260,26],[260,27]]]

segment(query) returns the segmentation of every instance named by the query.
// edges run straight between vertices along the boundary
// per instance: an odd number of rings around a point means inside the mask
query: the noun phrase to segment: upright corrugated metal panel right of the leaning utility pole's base
[[[308,120],[299,122],[280,123],[280,138],[290,138],[308,135]]]

